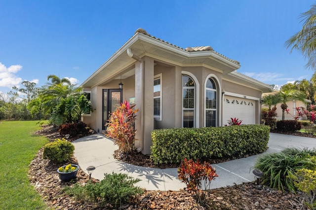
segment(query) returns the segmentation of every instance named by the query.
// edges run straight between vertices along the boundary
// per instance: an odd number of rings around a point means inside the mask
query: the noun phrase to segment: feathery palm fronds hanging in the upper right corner
[[[292,35],[286,42],[285,46],[300,51],[305,58],[308,58],[306,68],[316,69],[316,4],[311,9],[300,15],[304,21],[303,29]]]

